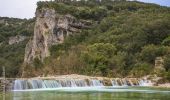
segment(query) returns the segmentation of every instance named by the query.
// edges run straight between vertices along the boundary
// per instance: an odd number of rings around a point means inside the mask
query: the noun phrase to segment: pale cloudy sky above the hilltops
[[[37,1],[50,0],[0,0],[0,16],[32,18],[35,15]],[[139,0],[170,6],[170,0]]]

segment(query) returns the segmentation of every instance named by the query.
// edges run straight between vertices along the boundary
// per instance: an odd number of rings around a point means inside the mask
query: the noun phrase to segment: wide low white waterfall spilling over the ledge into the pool
[[[120,79],[109,80],[112,86],[152,86],[152,82],[147,79]],[[97,87],[104,86],[104,81],[98,79],[20,79],[13,82],[14,90],[27,89],[49,89],[59,87]]]

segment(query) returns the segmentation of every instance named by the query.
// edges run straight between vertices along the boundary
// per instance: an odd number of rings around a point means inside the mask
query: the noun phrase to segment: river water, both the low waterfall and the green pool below
[[[149,80],[112,79],[110,85],[98,79],[21,79],[5,100],[170,100],[170,89],[151,88]]]

